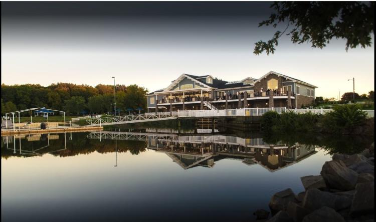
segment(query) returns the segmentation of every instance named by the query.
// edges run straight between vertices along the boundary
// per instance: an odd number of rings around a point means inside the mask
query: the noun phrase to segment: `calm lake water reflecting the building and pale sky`
[[[341,143],[368,144],[126,131],[2,137],[2,221],[252,221],[276,191],[303,191],[300,177]]]

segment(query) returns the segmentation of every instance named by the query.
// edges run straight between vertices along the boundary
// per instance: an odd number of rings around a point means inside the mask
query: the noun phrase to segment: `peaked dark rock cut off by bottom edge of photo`
[[[344,218],[334,209],[323,206],[303,218],[303,222],[345,222]]]

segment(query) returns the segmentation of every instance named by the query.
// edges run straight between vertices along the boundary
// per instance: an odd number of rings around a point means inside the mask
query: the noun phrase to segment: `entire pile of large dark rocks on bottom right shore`
[[[374,143],[358,154],[334,154],[320,175],[300,179],[305,191],[275,193],[269,202],[273,216],[259,209],[257,221],[374,221]]]

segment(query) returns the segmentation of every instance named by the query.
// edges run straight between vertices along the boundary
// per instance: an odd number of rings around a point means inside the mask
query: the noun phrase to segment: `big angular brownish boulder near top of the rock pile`
[[[321,175],[328,187],[340,190],[355,188],[358,174],[347,168],[342,160],[332,160],[324,163]]]

